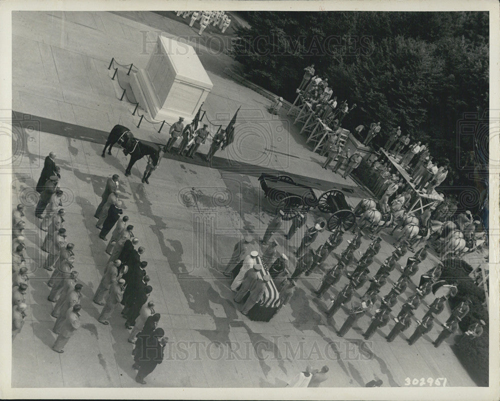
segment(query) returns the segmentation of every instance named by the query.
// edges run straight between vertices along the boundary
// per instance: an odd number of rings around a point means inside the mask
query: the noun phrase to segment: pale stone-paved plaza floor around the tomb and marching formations
[[[213,167],[196,156],[188,160],[167,153],[149,178],[150,184],[145,185],[140,181],[145,160],[139,160],[132,174],[125,177],[128,158],[121,151],[115,147],[111,156],[100,156],[107,133],[116,123],[130,127],[140,139],[166,142],[167,127],[161,133],[156,132],[157,125],[147,122],[134,127],[138,123],[131,115],[134,106],[118,99],[119,87],[107,67],[111,57],[144,67],[158,30],[174,37],[197,37],[197,29],[173,15],[168,18],[149,11],[12,13],[13,120],[24,121],[12,144],[12,204],[29,205],[25,237],[30,268],[28,321],[12,344],[12,387],[141,386],[134,381],[132,344],[127,342],[124,319],[116,310],[109,325],[100,324],[97,316],[101,307],[92,302],[108,259],[106,242],[98,237],[93,214],[107,177],[114,173],[120,175],[124,215],[129,216],[134,235],[146,248],[142,259],[148,262],[146,271],[153,287],[150,299],[161,314],[158,326],[169,338],[165,358],[146,378],[145,386],[283,387],[308,364],[329,366],[323,387],[362,387],[374,378],[382,379],[383,386],[396,387],[404,386],[406,377],[445,377],[447,386],[474,386],[449,346],[452,337],[439,348],[431,343],[440,332],[438,322],[448,317],[449,310],[445,309],[435,319],[434,328],[412,346],[405,339],[413,332],[414,322],[391,343],[384,336],[393,320],[364,341],[361,334],[369,325],[370,314],[360,318],[343,338],[337,337],[335,329],[345,320],[347,308],[332,318],[327,318],[324,310],[328,295],[335,295],[347,277],[321,299],[312,290],[322,272],[304,277],[289,304],[269,322],[250,321],[238,311],[230,280],[219,270],[241,237],[250,234],[259,238],[270,220],[273,209],[257,180],[261,171],[289,174],[318,194],[340,188],[351,206],[367,193],[350,178],[320,168],[324,158],[311,152],[300,128],[286,117],[286,110],[277,116],[269,114],[268,99],[224,74],[224,68],[233,66],[234,61],[206,47],[206,37],[219,33],[207,29],[202,39],[192,40],[213,82],[203,105],[210,121],[225,126],[241,106],[236,139],[216,153]],[[26,128],[25,120],[32,121],[32,129]],[[198,151],[205,154],[208,147],[209,141]],[[67,240],[75,244],[74,269],[83,284],[82,324],[63,354],[51,349],[54,319],[47,300],[48,272],[41,268],[46,253],[39,248],[44,232],[37,228],[33,213],[37,201],[34,187],[49,151],[56,152],[61,167],[64,227]],[[316,215],[312,211],[309,221]],[[293,270],[293,251],[301,231],[286,241],[283,233],[288,224],[285,222],[274,237],[278,250],[290,259],[288,269]],[[328,234],[319,235],[314,249]],[[370,266],[372,273],[394,249],[392,237],[381,236],[382,248]],[[350,237],[346,233],[333,253],[340,254]],[[368,242],[365,237],[361,252]],[[413,280],[437,261],[435,254],[430,254]],[[333,254],[328,262],[336,262]],[[380,294],[389,291],[399,274],[392,271]],[[354,301],[366,287],[355,292]],[[414,289],[410,284],[399,296],[395,314]],[[423,305],[432,299],[433,295],[428,295]],[[417,318],[426,311],[423,305],[415,312]]]

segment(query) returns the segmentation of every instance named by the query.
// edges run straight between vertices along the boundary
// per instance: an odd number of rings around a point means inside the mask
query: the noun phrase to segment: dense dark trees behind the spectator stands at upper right
[[[232,51],[248,79],[293,102],[303,68],[314,63],[333,95],[357,104],[345,128],[380,121],[387,134],[400,126],[429,142],[438,162],[450,160],[445,184],[474,183],[470,171],[487,160],[487,12],[241,14],[250,28],[237,30]]]

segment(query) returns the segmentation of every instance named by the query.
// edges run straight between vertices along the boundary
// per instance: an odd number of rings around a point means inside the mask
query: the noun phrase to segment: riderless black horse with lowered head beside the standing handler
[[[125,176],[130,175],[130,170],[135,162],[142,158],[143,156],[150,155],[153,159],[153,164],[155,164],[158,160],[158,149],[155,149],[152,146],[146,145],[142,143],[138,139],[134,139],[130,129],[126,126],[116,124],[109,132],[109,136],[107,137],[106,144],[104,145],[104,149],[102,150],[101,156],[105,156],[106,148],[109,146],[107,154],[111,154],[111,148],[115,143],[118,143],[119,146],[123,147],[123,151],[125,154],[130,153],[130,162],[125,168]]]

